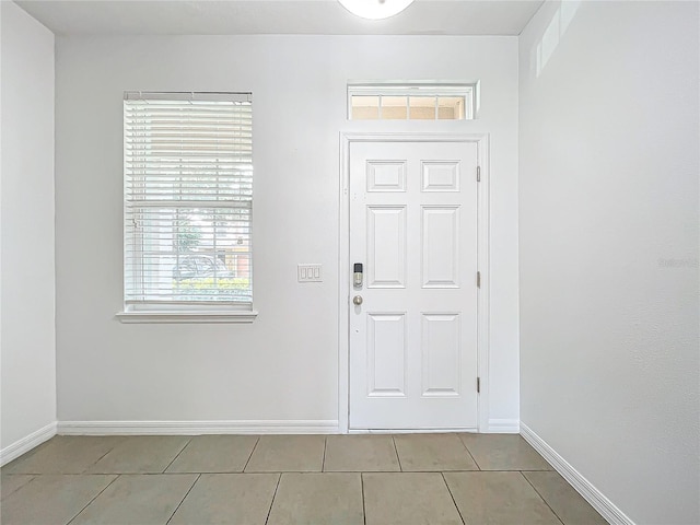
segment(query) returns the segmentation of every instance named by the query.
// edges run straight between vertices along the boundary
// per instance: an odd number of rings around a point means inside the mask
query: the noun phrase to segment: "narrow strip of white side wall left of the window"
[[[54,35],[13,2],[0,10],[4,453],[56,421]]]

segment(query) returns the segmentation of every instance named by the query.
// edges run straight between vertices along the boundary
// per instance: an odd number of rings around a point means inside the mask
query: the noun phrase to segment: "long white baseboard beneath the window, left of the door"
[[[60,421],[60,435],[336,434],[336,420]]]

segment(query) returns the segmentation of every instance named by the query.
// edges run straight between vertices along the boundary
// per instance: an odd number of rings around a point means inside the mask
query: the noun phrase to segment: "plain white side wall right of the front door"
[[[552,2],[520,42],[522,421],[639,524],[700,523],[698,27]]]

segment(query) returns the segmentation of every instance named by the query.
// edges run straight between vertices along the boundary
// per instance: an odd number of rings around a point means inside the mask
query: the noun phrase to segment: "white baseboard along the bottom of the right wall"
[[[561,457],[545,440],[521,421],[521,435],[611,525],[634,525],[603,492]]]

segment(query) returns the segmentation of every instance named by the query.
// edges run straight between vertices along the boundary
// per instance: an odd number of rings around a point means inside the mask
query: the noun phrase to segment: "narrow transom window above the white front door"
[[[352,120],[465,120],[475,113],[476,84],[350,83]]]

